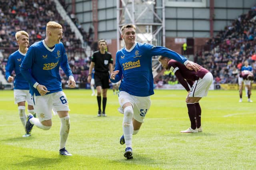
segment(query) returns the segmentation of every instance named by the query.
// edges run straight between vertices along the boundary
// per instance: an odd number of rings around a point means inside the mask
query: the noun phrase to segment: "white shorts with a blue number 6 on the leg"
[[[54,112],[70,111],[67,97],[63,91],[44,96],[36,96],[34,94],[33,99],[36,117],[38,117],[39,121],[52,119],[52,110]]]

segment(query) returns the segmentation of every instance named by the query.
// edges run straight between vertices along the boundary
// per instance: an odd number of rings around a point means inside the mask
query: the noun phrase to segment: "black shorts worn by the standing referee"
[[[94,81],[95,86],[101,86],[102,89],[110,88],[109,86],[109,73],[108,72],[95,72]]]

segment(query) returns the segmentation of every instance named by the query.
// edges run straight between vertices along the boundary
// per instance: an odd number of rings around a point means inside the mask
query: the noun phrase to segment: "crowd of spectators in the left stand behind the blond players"
[[[62,5],[63,4],[62,2]],[[86,33],[75,17],[71,17],[78,29],[84,35],[84,40],[89,40],[92,30]],[[5,65],[9,55],[18,49],[15,33],[25,30],[29,33],[30,45],[45,38],[46,23],[58,21],[63,27],[62,42],[69,56],[70,67],[75,74],[76,81],[86,82],[88,73],[88,57],[81,57],[82,44],[71,31],[66,21],[56,12],[56,5],[53,0],[0,0],[0,70],[5,74]],[[85,55],[84,55],[85,56]],[[87,71],[86,71],[87,70]],[[68,79],[63,77],[63,80]]]

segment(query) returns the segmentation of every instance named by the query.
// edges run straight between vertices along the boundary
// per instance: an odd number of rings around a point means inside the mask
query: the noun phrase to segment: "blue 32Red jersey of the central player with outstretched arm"
[[[121,80],[120,91],[133,96],[150,96],[154,94],[154,80],[152,74],[152,56],[162,55],[184,63],[186,57],[161,46],[148,43],[135,43],[131,49],[125,47],[116,53],[115,70],[119,70],[115,80]]]

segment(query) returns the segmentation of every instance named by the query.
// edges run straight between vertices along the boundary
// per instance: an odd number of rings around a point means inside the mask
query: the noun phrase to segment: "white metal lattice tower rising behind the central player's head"
[[[161,0],[158,0],[159,4]],[[135,6],[136,5],[136,6]],[[143,6],[143,10],[136,10],[137,6]],[[156,37],[162,34],[160,37],[160,44],[165,46],[165,0],[162,0],[162,4],[158,6],[156,0],[116,0],[116,39],[117,39],[117,50],[120,49],[120,34],[121,27],[127,23],[136,25],[137,33],[140,34],[141,39],[152,43],[156,40]],[[156,13],[156,10],[162,10],[162,16]],[[152,14],[151,21],[143,21],[142,18],[150,17]],[[128,21],[127,21],[128,20]],[[145,34],[145,31],[141,30],[141,27],[147,27],[150,31]]]

